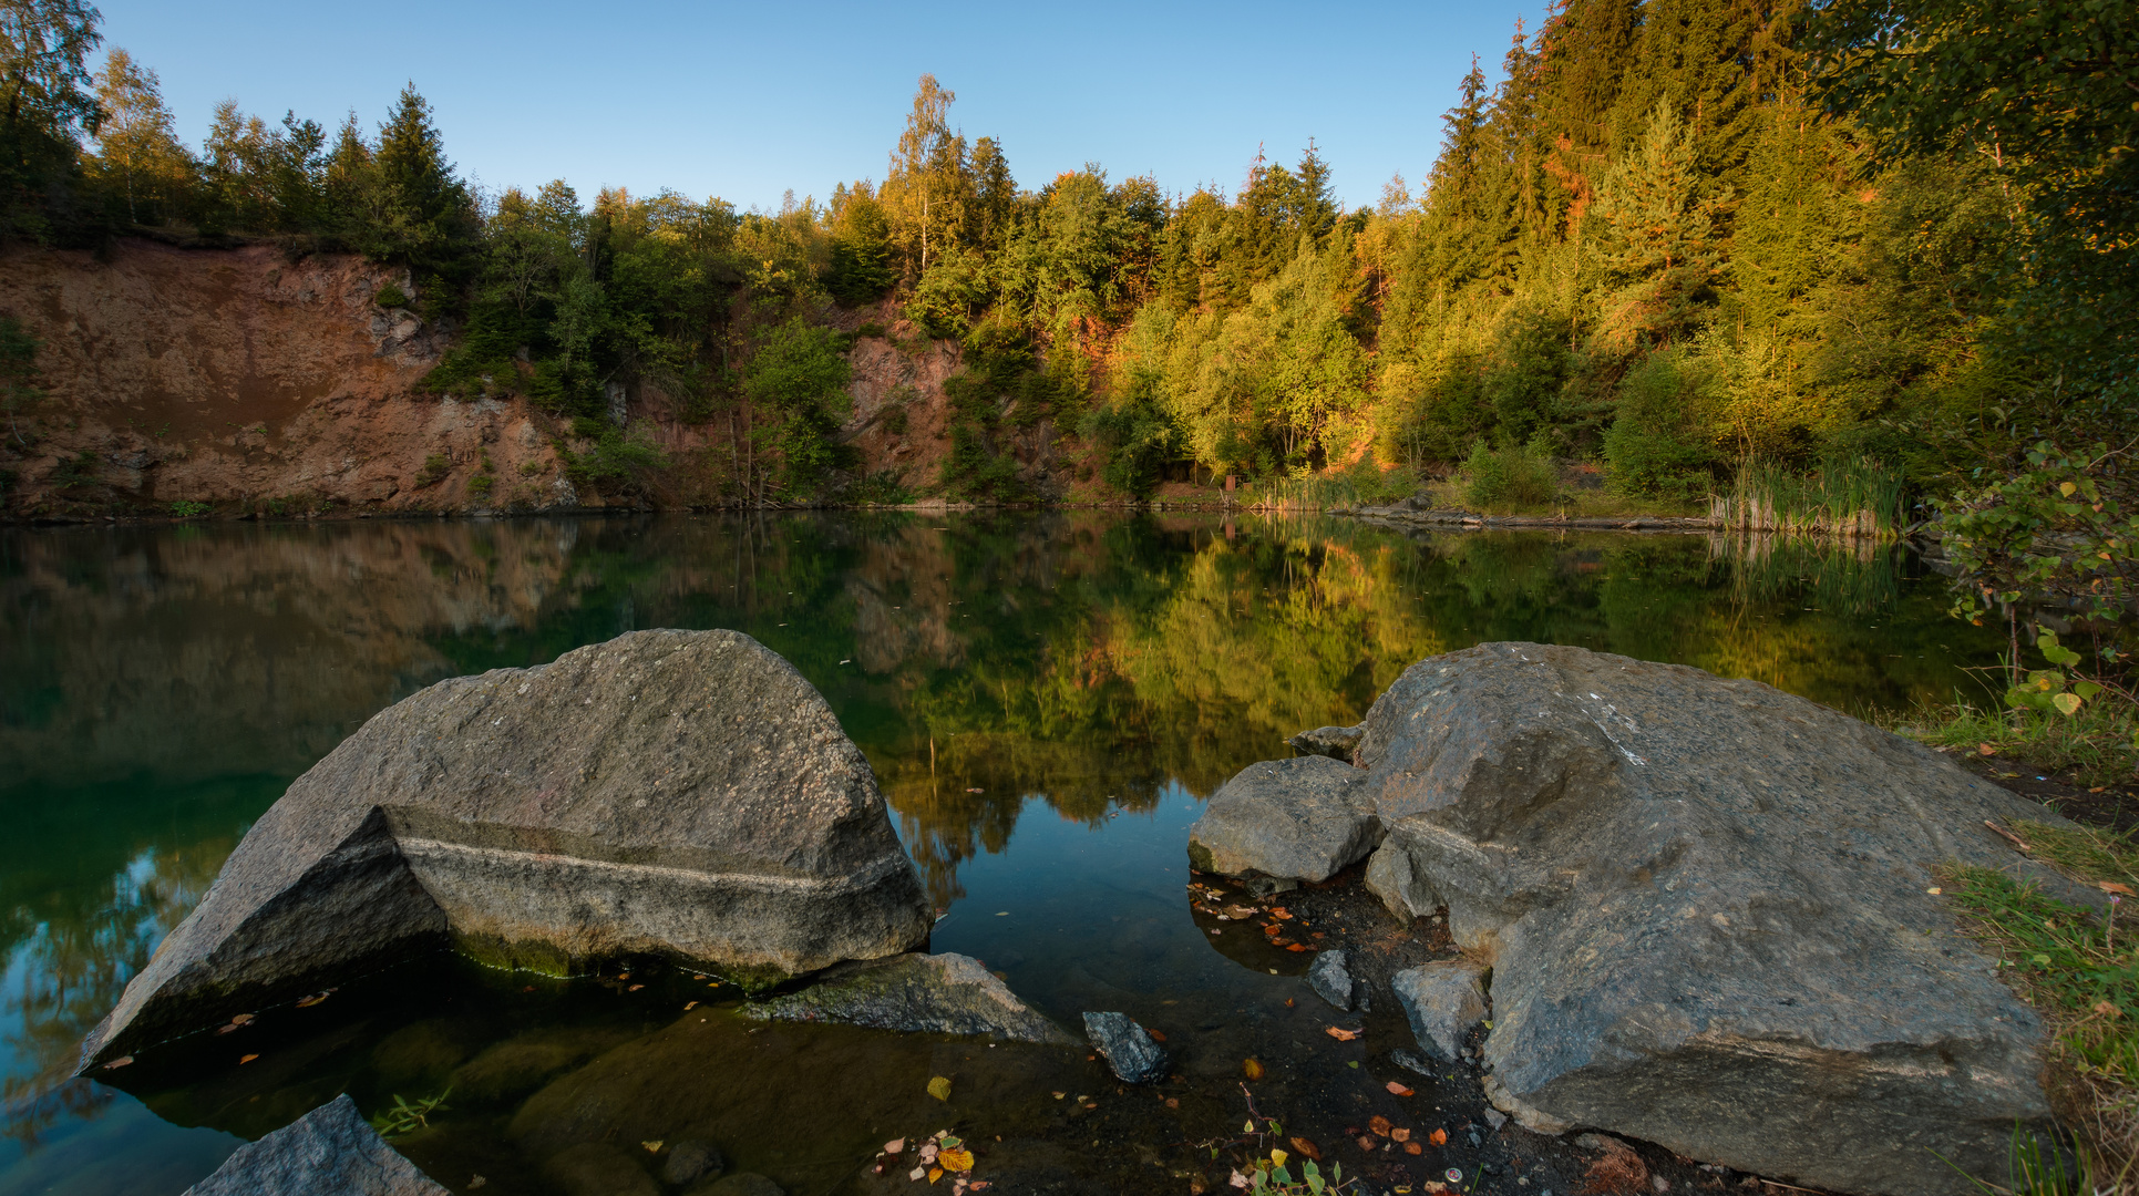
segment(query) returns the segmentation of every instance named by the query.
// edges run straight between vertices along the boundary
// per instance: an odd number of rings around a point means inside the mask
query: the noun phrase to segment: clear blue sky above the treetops
[[[163,75],[199,145],[216,101],[379,124],[404,81],[488,188],[565,178],[738,208],[883,178],[915,79],[1001,139],[1018,186],[1099,163],[1168,190],[1241,186],[1313,137],[1339,199],[1416,188],[1476,51],[1497,79],[1542,0],[1459,4],[548,4],[98,0],[105,47]]]

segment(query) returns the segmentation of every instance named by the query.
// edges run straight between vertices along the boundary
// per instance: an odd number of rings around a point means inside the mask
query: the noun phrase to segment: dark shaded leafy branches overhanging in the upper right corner
[[[1814,86],[1895,154],[1981,154],[2019,210],[1998,347],[2068,439],[2135,430],[2139,49],[2107,0],[1833,0]]]

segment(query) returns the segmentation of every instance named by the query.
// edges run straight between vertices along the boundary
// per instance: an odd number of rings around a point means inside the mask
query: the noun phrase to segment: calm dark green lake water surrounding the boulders
[[[1080,1136],[1050,1091],[1093,1087],[1082,1057],[755,1027],[659,967],[640,991],[530,988],[424,961],[347,986],[302,1029],[263,1018],[242,1044],[143,1057],[126,1091],[66,1078],[246,826],[445,676],[637,627],[755,635],[875,764],[950,911],[935,950],[982,956],[1072,1025],[1117,1008],[1200,1033],[1209,1059],[1183,1048],[1183,1065],[1219,1076],[1315,1033],[1283,1008],[1298,969],[1215,950],[1181,888],[1198,802],[1286,755],[1283,736],[1352,723],[1407,663],[1480,640],[1899,708],[1974,689],[1961,665],[1996,653],[1942,595],[1884,550],[1215,516],[4,531],[0,1196],[178,1194],[338,1091],[374,1113],[449,1085],[404,1149],[456,1190],[483,1175],[486,1196],[543,1187],[528,1143],[588,1136],[622,1143],[614,1166],[637,1166],[640,1140],[708,1136],[791,1192],[853,1187],[873,1143],[952,1115],[1012,1140]],[[922,1093],[930,1074],[958,1076],[950,1108]],[[1330,1076],[1301,1063],[1271,1083]],[[1238,1121],[1194,1102],[1179,1117],[1204,1113]]]

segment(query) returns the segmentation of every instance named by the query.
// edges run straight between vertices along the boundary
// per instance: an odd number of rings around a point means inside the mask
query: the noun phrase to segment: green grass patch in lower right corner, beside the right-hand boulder
[[[2009,830],[2079,884],[2139,894],[2139,845],[2122,834],[2041,822]],[[2077,1183],[2043,1172],[2023,1190],[2126,1190],[2139,1149],[2139,899],[2120,896],[2100,916],[1996,869],[1951,867],[1940,884],[1964,931],[2049,1027],[2051,1106],[2081,1138]]]

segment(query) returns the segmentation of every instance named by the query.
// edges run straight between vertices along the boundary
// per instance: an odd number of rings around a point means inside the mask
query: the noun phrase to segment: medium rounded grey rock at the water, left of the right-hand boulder
[[[1189,828],[1206,873],[1322,881],[1382,841],[1367,775],[1326,755],[1249,764]]]

